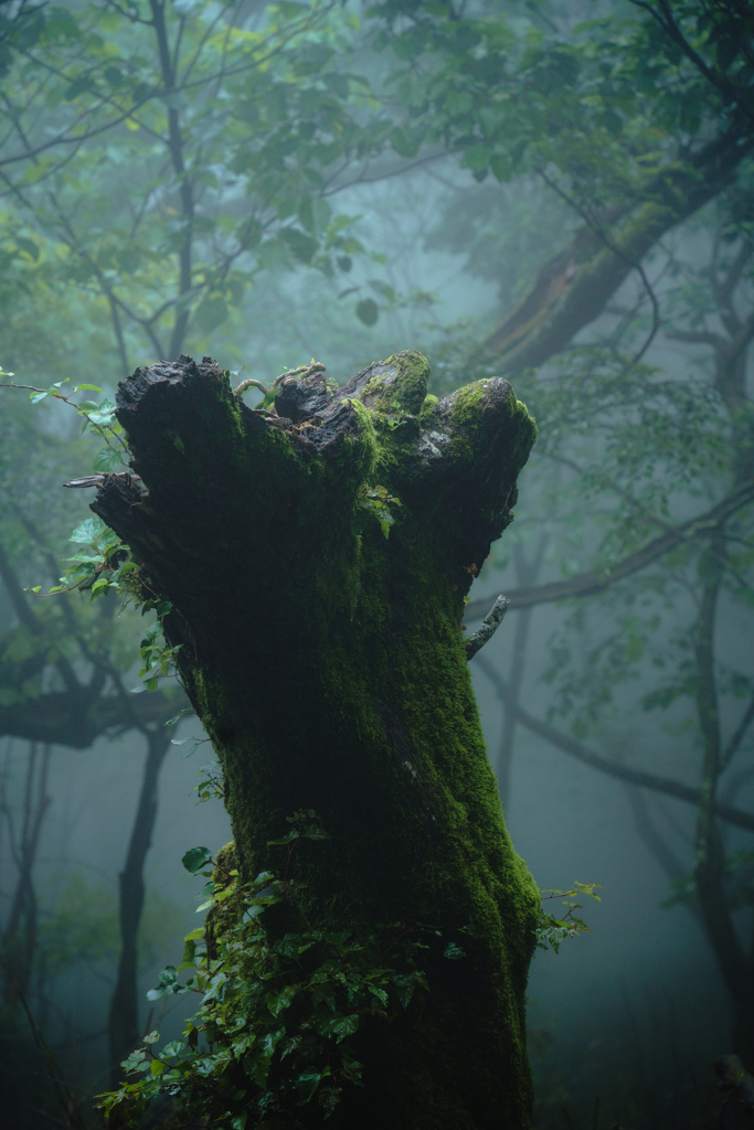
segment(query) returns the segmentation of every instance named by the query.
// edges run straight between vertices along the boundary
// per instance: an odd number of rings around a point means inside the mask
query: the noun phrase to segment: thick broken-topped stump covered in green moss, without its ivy
[[[331,838],[297,866],[330,925],[473,929],[466,959],[427,951],[430,994],[371,1025],[365,1087],[329,1122],[344,1130],[522,1128],[530,1113],[537,890],[503,823],[460,625],[535,426],[505,381],[437,401],[427,372],[407,351],[338,390],[288,377],[270,416],[208,358],[137,370],[118,416],[144,485],[109,477],[93,505],[173,605],[242,876],[278,867],[268,841],[311,808]],[[400,499],[389,538],[364,484]]]

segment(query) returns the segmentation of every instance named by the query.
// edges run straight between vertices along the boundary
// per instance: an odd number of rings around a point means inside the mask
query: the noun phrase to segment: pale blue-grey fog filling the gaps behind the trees
[[[69,7],[73,10],[73,6]],[[479,6],[491,18],[504,7]],[[523,19],[518,6],[508,7],[515,7],[515,18]],[[609,16],[627,7],[603,5],[600,11]],[[543,11],[547,26],[560,27],[556,37],[570,43],[570,25],[561,8],[544,5]],[[598,31],[591,34],[597,42]],[[375,58],[374,75],[389,70],[391,64],[384,54]],[[15,73],[12,66],[9,73]],[[28,72],[25,75],[28,82]],[[661,101],[662,96],[660,90],[657,98]],[[669,105],[670,95],[667,98]],[[364,106],[358,113],[364,118]],[[705,138],[713,136],[720,114],[710,95],[710,105],[702,111],[702,122],[696,127],[699,138],[692,127],[685,125],[684,144],[693,148],[699,141],[702,146]],[[673,130],[667,130],[669,138]],[[742,130],[746,132],[744,127]],[[125,138],[129,145],[136,136],[133,132]],[[643,134],[641,141],[636,138],[638,125],[632,145],[645,144]],[[668,138],[658,146],[666,146],[669,153]],[[340,252],[353,258],[353,267],[336,276],[318,270],[315,262],[262,267],[253,273],[227,321],[188,331],[182,349],[197,356],[211,355],[220,367],[237,372],[237,380],[251,375],[266,383],[281,370],[313,358],[327,366],[328,377],[343,385],[363,366],[400,349],[425,354],[432,366],[430,392],[437,395],[497,373],[510,379],[518,397],[537,417],[540,433],[519,478],[515,519],[493,546],[471,586],[470,600],[478,601],[482,608],[485,602],[492,607],[499,593],[565,583],[593,570],[603,571],[600,575],[605,576],[652,539],[703,515],[723,496],[751,483],[751,454],[744,452],[747,444],[751,449],[751,438],[744,436],[746,427],[751,431],[748,338],[742,347],[744,394],[735,409],[738,416],[734,412],[730,417],[731,425],[723,419],[720,362],[713,351],[716,334],[721,338],[737,332],[730,308],[735,307],[739,323],[752,323],[751,199],[745,207],[742,205],[751,185],[751,171],[744,162],[738,180],[731,174],[707,203],[687,209],[683,221],[668,224],[661,236],[650,241],[647,251],[642,250],[641,275],[635,263],[630,267],[599,314],[577,327],[567,347],[553,350],[541,364],[525,360],[510,370],[508,354],[480,354],[482,342],[489,340],[489,334],[531,292],[540,268],[571,246],[573,233],[584,224],[587,206],[579,210],[569,205],[565,193],[549,191],[537,175],[536,162],[500,182],[488,176],[477,183],[453,153],[434,151],[441,145],[436,138],[431,142],[424,164],[419,159],[424,150],[419,149],[418,167],[414,167],[414,157],[395,151],[347,165],[329,182],[326,197],[333,211],[352,217],[349,237],[364,249]],[[461,142],[453,145],[460,147]],[[0,158],[2,153],[0,149]],[[551,163],[546,167],[552,172],[557,155],[543,153],[543,162]],[[575,167],[577,158],[573,160]],[[590,215],[599,215],[600,225],[612,224],[606,203],[608,173],[584,171],[586,165],[578,173],[564,168],[562,182],[567,182],[569,192],[588,200],[589,191],[593,191]],[[592,173],[599,184],[584,188]],[[618,173],[614,173],[617,177]],[[57,175],[62,177],[62,172]],[[102,175],[106,186],[105,174],[96,175]],[[88,191],[87,185],[60,182],[61,195],[68,192],[78,199],[85,223],[87,208],[92,208],[92,223],[102,226],[102,201],[89,200]],[[99,191],[104,191],[102,185]],[[113,214],[120,215],[119,209],[125,212],[125,186],[114,184],[111,191]],[[121,191],[123,199],[119,201]],[[68,348],[71,334],[76,338],[76,319],[81,319],[86,331],[80,334],[76,356],[67,356],[62,370],[66,375],[73,374],[71,383],[93,381],[112,394],[122,365],[109,329],[106,304],[92,297],[92,280],[81,284],[80,293],[73,295],[73,282],[53,278],[49,264],[55,261],[55,254],[58,263],[63,258],[63,252],[55,252],[53,246],[55,240],[63,238],[61,225],[55,227],[50,216],[43,215],[42,203],[35,206],[36,212],[31,205],[25,208],[18,192],[2,199],[5,232],[10,238],[14,223],[23,221],[26,238],[34,237],[44,247],[40,262],[47,263],[50,273],[40,282],[40,289],[34,290],[29,284],[15,306],[8,299],[8,324],[0,333],[0,363],[16,375],[5,375],[2,381],[47,388],[60,380],[58,346],[62,342]],[[617,199],[621,193],[617,189],[615,193]],[[610,241],[619,236],[617,226],[610,228],[605,245],[609,247]],[[69,250],[71,246],[69,242]],[[167,244],[161,247],[159,253],[155,251],[156,261],[162,255],[167,262],[172,252],[165,250]],[[722,299],[717,310],[713,307],[710,262],[714,255],[727,255],[728,263],[742,263],[731,284],[735,295],[730,308]],[[27,260],[19,270],[31,278],[35,261]],[[157,271],[155,266],[155,279]],[[155,279],[149,285],[159,290]],[[67,297],[67,286],[72,297]],[[45,288],[54,298],[46,305]],[[372,324],[367,324],[369,318],[355,313],[355,304],[364,299],[379,306]],[[129,322],[124,313],[121,316],[129,366],[157,359],[137,321]],[[161,333],[165,341],[168,330],[161,329]],[[588,353],[603,347],[601,360]],[[632,362],[632,357],[638,359]],[[609,388],[607,382],[599,383],[601,364],[605,372],[613,366],[614,384]],[[664,417],[660,408],[657,418],[650,418],[649,409],[644,416],[641,411],[636,415],[636,406],[641,405],[631,389],[640,388],[642,381],[647,388],[652,382],[667,382],[671,388],[670,400],[664,401]],[[557,389],[566,386],[573,389],[573,410],[556,399]],[[686,390],[696,407],[681,400],[671,403],[674,389]],[[67,531],[87,518],[86,505],[93,496],[89,492],[62,489],[66,476],[90,473],[92,452],[86,449],[85,453],[86,441],[75,437],[78,421],[72,427],[61,415],[62,406],[55,405],[54,412],[32,406],[27,392],[7,389],[1,395],[5,421],[0,429],[6,435],[2,443],[7,452],[1,547],[10,563],[10,572],[2,574],[0,592],[5,672],[14,664],[20,671],[32,653],[31,646],[18,643],[24,627],[20,598],[12,593],[9,577],[12,574],[21,588],[43,584],[46,590],[50,582],[44,564],[46,549],[35,544],[28,529],[24,532],[19,514],[26,512],[37,529],[43,528],[47,548],[61,562],[69,556]],[[589,397],[595,398],[593,417],[583,409]],[[250,406],[257,401],[262,403],[258,392],[246,395]],[[603,427],[599,414],[608,410],[605,403],[609,403],[610,418]],[[702,405],[709,408],[707,419],[702,418]],[[575,423],[574,414],[579,417]],[[688,428],[687,442],[684,427]],[[31,435],[37,440],[32,442]],[[736,444],[744,454],[733,453]],[[96,446],[93,450],[96,452]],[[21,459],[27,461],[26,469]],[[748,715],[746,711],[754,677],[751,503],[748,510],[736,511],[726,521],[721,534],[729,539],[725,542],[725,575],[716,589],[717,619],[711,628],[722,746],[743,729],[735,760],[731,755],[730,768],[723,765],[716,788],[720,803],[751,814],[754,731],[745,725],[746,716],[751,720],[751,711]],[[545,893],[553,888],[567,892],[575,881],[600,885],[599,902],[578,899],[582,910],[577,913],[584,919],[588,932],[565,937],[557,954],[552,948],[537,949],[531,964],[528,1028],[537,1094],[535,1125],[541,1130],[748,1124],[743,1107],[734,1111],[735,1103],[726,1115],[730,1121],[718,1121],[722,1118],[721,1098],[716,1090],[713,1062],[731,1052],[740,1053],[749,1070],[754,1070],[754,1062],[747,1061],[744,1048],[735,1043],[734,1032],[740,1029],[735,1029],[731,989],[705,925],[709,912],[690,887],[695,852],[699,859],[700,851],[695,838],[696,803],[662,792],[661,788],[640,788],[619,775],[598,771],[532,732],[520,719],[512,725],[514,709],[508,699],[502,701],[500,688],[485,673],[486,668],[493,676],[497,672],[509,688],[514,687],[515,704],[529,715],[612,765],[700,790],[707,747],[699,722],[701,676],[693,664],[701,654],[697,625],[704,607],[705,577],[712,567],[709,554],[704,557],[704,538],[709,538],[704,530],[692,531],[684,536],[685,540],[679,538],[666,556],[648,559],[645,566],[615,585],[610,582],[603,591],[560,600],[544,597],[541,601],[532,600],[529,607],[517,606],[514,600],[492,641],[470,664],[488,755],[501,777],[505,822],[515,851]],[[279,596],[285,599],[284,592]],[[35,609],[43,603],[45,610],[54,600],[37,601],[32,596],[23,599]],[[86,593],[59,599],[70,600],[72,607],[84,609],[80,615],[88,615]],[[54,611],[50,614],[47,626],[55,616]],[[522,617],[529,618],[527,638],[520,628]],[[478,626],[479,618],[476,612],[467,617],[468,633]],[[140,681],[138,641],[146,620],[141,621],[133,610],[113,620],[121,635],[112,644],[112,653],[118,654],[116,666],[127,693]],[[86,632],[94,641],[94,620],[86,623]],[[81,678],[92,677],[96,667],[96,662],[90,663],[92,653],[81,650],[75,642],[79,637],[61,624],[58,617],[51,629],[54,640],[44,670],[28,676],[37,679],[35,688],[18,692],[16,698],[9,693],[0,703],[3,718],[10,719],[11,709],[18,709],[21,699],[32,714],[34,702],[38,702],[40,711],[45,709],[45,694],[64,686],[55,667],[59,653],[70,655]],[[61,644],[63,637],[69,642]],[[113,683],[107,686],[114,687],[114,676],[109,678]],[[7,681],[9,687],[15,686],[11,677]],[[670,684],[675,689],[667,693],[666,699],[649,702],[648,696],[665,693]],[[141,695],[139,702],[149,694]],[[502,748],[506,712],[508,765]],[[161,1036],[172,1040],[180,1035],[185,1017],[196,1010],[196,1001],[177,997],[165,1005],[165,999],[151,1002],[146,994],[165,965],[180,964],[183,938],[203,916],[203,912],[197,915],[196,911],[203,880],[189,875],[181,859],[197,845],[207,846],[216,855],[233,833],[223,800],[200,801],[197,793],[200,767],[214,757],[199,721],[193,716],[182,719],[170,732],[172,744],[159,771],[154,833],[144,864],[147,895],[138,997],[141,1033],[158,1028]],[[83,1116],[89,1121],[66,1125],[98,1124],[89,1096],[109,1086],[112,1064],[107,1010],[120,953],[119,875],[124,868],[142,788],[145,733],[123,722],[107,732],[103,729],[86,748],[54,740],[45,746],[41,738],[32,745],[9,720],[0,739],[0,925],[6,931],[5,945],[9,945],[14,899],[18,899],[25,867],[23,844],[28,846],[28,825],[33,823],[34,803],[28,798],[36,779],[27,776],[29,751],[35,750],[38,760],[43,748],[50,749],[49,775],[40,792],[49,803],[37,806],[40,834],[32,852],[29,879],[43,956],[29,973],[27,1001],[62,1075],[84,1096]],[[748,954],[751,828],[722,820],[719,827],[728,860],[726,905],[740,946]],[[675,904],[664,905],[674,893]],[[90,945],[76,933],[75,922],[61,925],[67,901],[75,916],[83,915],[80,921]],[[560,915],[560,899],[543,905]],[[28,941],[31,936],[26,937]],[[61,956],[66,947],[68,951]],[[9,949],[10,956],[3,958],[8,975],[9,963],[15,960],[12,954],[15,950]],[[15,1008],[12,992],[8,990],[7,996],[10,1016]],[[26,1020],[18,1016],[12,1023],[19,1034],[14,1038],[31,1048]],[[42,1069],[37,1064],[35,1070]],[[19,1119],[15,1124],[45,1124],[36,1102],[23,1095],[14,1102],[20,1112],[15,1115]],[[54,1111],[54,1099],[51,1103],[49,1109]],[[54,1118],[59,1114],[51,1115]]]

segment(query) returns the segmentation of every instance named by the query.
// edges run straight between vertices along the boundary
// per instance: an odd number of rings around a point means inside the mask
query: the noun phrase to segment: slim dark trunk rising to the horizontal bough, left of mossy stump
[[[122,1077],[121,1060],[139,1042],[139,925],[144,910],[144,861],[151,845],[151,834],[157,817],[157,785],[159,771],[170,747],[164,727],[145,730],[147,756],[144,764],[141,791],[131,829],[125,866],[119,876],[119,921],[121,954],[118,979],[110,1000],[107,1035],[110,1041],[110,1070],[112,1086],[118,1087]]]

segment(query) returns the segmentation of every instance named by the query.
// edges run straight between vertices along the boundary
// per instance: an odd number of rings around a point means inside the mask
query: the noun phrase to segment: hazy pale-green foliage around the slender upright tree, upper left
[[[349,66],[358,26],[332,0],[94,3],[51,10],[16,59],[21,238],[36,270],[94,296],[121,364],[135,341],[158,356],[187,332],[206,342],[260,270],[348,275],[364,249],[326,190],[384,134]]]

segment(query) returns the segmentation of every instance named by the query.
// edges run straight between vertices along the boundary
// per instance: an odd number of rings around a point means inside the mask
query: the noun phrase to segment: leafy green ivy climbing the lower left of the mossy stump
[[[287,835],[270,842],[288,849],[281,877],[265,871],[241,885],[223,859],[202,871],[214,862],[206,847],[184,855],[184,867],[208,880],[200,910],[210,914],[187,936],[182,964],[163,970],[149,998],[192,992],[201,1006],[182,1040],[157,1051],[154,1032],[124,1061],[136,1078],[101,1101],[111,1125],[140,1125],[147,1104],[165,1094],[182,1118],[233,1130],[288,1124],[312,1103],[327,1118],[344,1087],[361,1081],[356,1032],[389,1022],[417,990],[427,990],[418,958],[439,931],[395,923],[362,933],[318,924],[310,894],[291,877],[292,858],[302,840],[327,836],[311,809],[288,820]],[[298,930],[280,928],[294,919]],[[465,957],[453,942],[444,955]],[[182,971],[190,971],[184,982]]]

